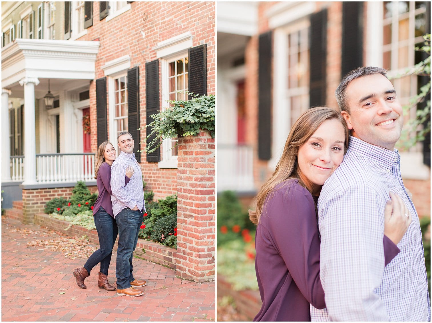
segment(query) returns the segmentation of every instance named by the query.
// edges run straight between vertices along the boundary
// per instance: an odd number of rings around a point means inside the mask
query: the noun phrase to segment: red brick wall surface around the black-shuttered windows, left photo
[[[213,2],[159,2],[135,1],[131,9],[116,18],[99,21],[99,2],[93,3],[93,25],[87,28],[87,35],[79,40],[98,40],[100,48],[96,59],[95,79],[104,76],[102,66],[110,60],[130,56],[130,67],[140,68],[140,142],[145,148],[146,138],[146,85],[145,63],[156,59],[153,48],[158,42],[191,32],[193,46],[207,45],[207,93],[215,94],[216,85],[216,42],[215,3]],[[144,32],[145,37],[141,35]],[[160,64],[159,64],[160,66]],[[161,75],[161,73],[159,73]],[[161,84],[162,79],[159,79]],[[162,87],[160,88],[162,107]],[[90,83],[90,120],[92,151],[97,150],[95,82]],[[108,109],[107,109],[108,110]],[[109,116],[108,116],[109,117]],[[115,145],[116,139],[109,138]],[[155,199],[177,192],[177,170],[159,168],[157,163],[146,162],[141,155],[143,180],[146,189],[155,192]]]

